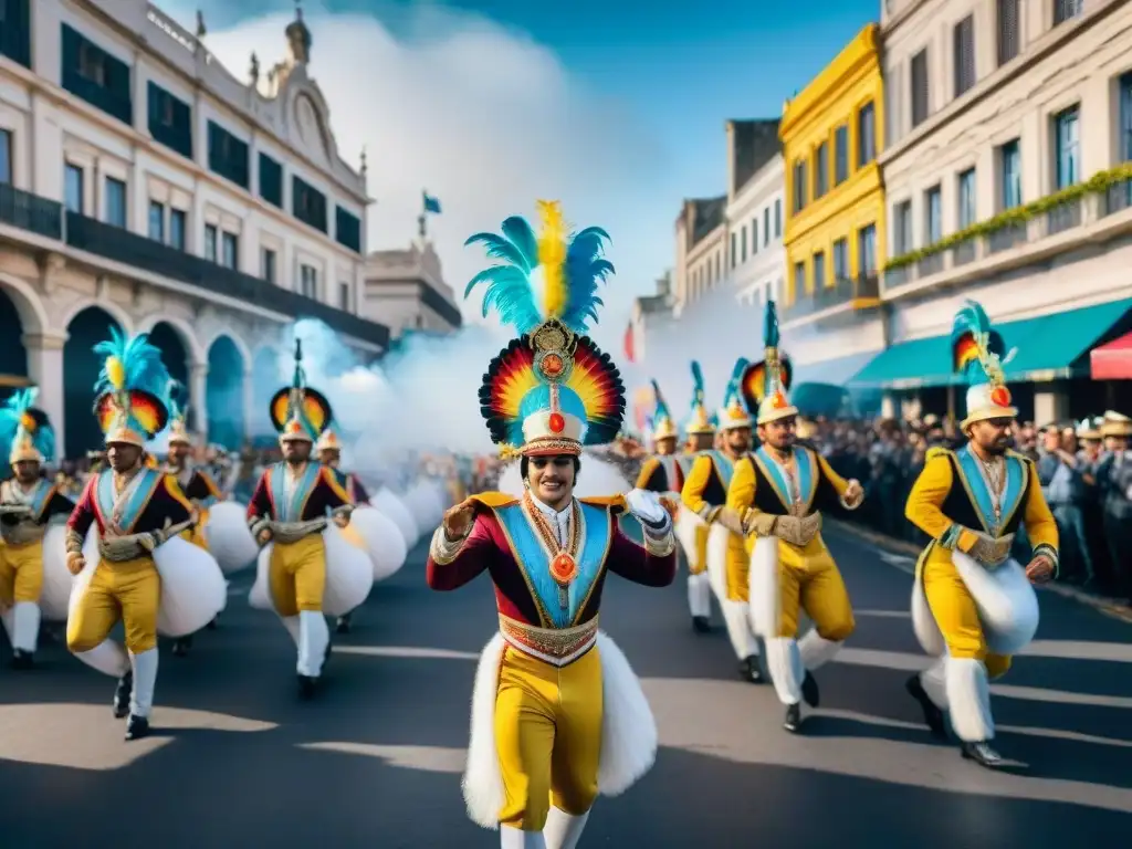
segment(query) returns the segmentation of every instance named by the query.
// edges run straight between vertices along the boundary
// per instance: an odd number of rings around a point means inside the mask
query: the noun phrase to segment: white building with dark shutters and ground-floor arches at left
[[[337,151],[301,17],[241,80],[145,0],[0,7],[0,391],[40,387],[61,456],[98,441],[91,348],[112,326],[149,331],[196,429],[232,446],[268,427],[295,319],[386,349],[361,315],[365,166]]]

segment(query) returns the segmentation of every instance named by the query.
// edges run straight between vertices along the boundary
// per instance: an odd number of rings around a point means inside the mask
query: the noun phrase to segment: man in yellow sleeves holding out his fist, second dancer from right
[[[783,726],[795,732],[801,727],[803,698],[811,706],[818,703],[814,670],[854,631],[844,581],[822,540],[821,511],[856,509],[865,491],[813,448],[795,444],[798,410],[786,394],[790,369],[779,350],[773,301],[766,303],[763,346],[763,361],[748,366],[739,380],[747,403],[757,406],[762,444],[736,464],[727,508],[739,516],[748,541],[751,616],[765,641],[774,691],[786,705]],[[801,612],[814,627],[798,640]]]

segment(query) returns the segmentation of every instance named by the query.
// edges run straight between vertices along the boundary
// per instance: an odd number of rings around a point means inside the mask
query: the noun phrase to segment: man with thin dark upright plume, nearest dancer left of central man
[[[261,588],[267,606],[278,614],[295,642],[295,674],[302,697],[314,695],[331,645],[324,612],[340,616],[358,607],[374,584],[372,566],[360,548],[345,543],[345,528],[354,503],[337,473],[311,457],[316,440],[334,415],[320,392],[307,385],[302,343],[294,343],[294,376],[271,401],[271,417],[280,431],[283,460],[266,469],[248,505],[248,526],[264,547],[259,555]],[[333,518],[333,523],[328,524]],[[369,583],[352,580],[361,556]],[[361,573],[359,573],[360,575]],[[327,584],[350,589],[350,603],[325,610]],[[365,590],[365,592],[362,592]],[[252,591],[254,594],[257,590]]]

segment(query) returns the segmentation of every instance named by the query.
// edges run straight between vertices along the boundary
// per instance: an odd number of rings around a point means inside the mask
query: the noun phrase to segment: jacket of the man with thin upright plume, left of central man
[[[268,466],[248,504],[248,526],[258,535],[268,522],[301,524],[329,515],[349,513],[353,500],[342,484],[338,473],[328,465],[309,462],[303,466],[288,492],[288,464]]]

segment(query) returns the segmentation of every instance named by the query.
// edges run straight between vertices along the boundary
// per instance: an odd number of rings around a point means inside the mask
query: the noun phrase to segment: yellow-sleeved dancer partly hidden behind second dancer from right
[[[751,411],[744,402],[739,383],[747,365],[748,361],[740,358],[731,369],[731,377],[723,391],[723,405],[717,414],[718,447],[696,455],[684,482],[681,501],[706,525],[706,530],[695,530],[697,534],[707,534],[704,543],[707,582],[723,611],[727,635],[739,660],[739,677],[752,684],[762,684],[766,678],[765,669],[761,664],[760,646],[748,621],[747,588],[741,580],[746,574],[747,558],[743,552],[743,540],[737,535],[738,523],[723,512],[735,464],[751,451]],[[693,374],[697,371],[698,367]],[[698,375],[696,380],[702,384]],[[706,417],[701,414],[701,418]],[[710,432],[705,423],[701,423],[700,430],[705,436]],[[681,540],[686,538],[687,532],[681,532]],[[688,592],[693,592],[691,585]],[[706,631],[709,600],[703,590],[696,592],[700,593],[695,603],[701,618],[693,618],[693,623],[697,631]]]

